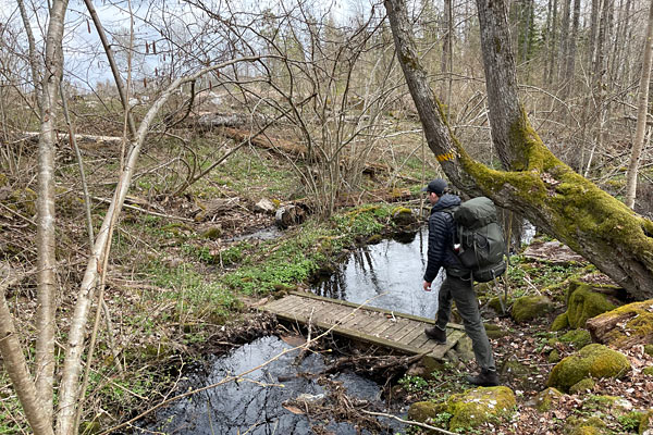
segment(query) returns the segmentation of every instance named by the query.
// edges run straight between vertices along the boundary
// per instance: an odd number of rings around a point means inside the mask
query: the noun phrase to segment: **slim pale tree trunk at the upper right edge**
[[[646,39],[644,39],[642,77],[639,88],[639,103],[637,109],[637,127],[634,130],[634,142],[630,154],[630,163],[626,173],[626,206],[634,208],[637,196],[637,175],[639,161],[644,146],[644,134],[646,132],[646,113],[649,112],[649,83],[651,82],[651,49],[653,48],[653,2],[649,5],[649,22],[646,23]]]

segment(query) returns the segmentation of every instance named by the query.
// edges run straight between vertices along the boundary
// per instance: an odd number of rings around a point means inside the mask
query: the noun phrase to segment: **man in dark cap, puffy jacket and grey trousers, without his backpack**
[[[481,368],[480,374],[467,376],[467,382],[481,386],[495,386],[498,385],[498,376],[494,365],[494,356],[481,321],[471,273],[463,266],[454,251],[456,224],[452,209],[460,206],[460,198],[445,194],[446,188],[446,182],[436,178],[422,189],[429,194],[429,201],[433,206],[429,217],[429,251],[427,272],[424,273],[424,290],[431,291],[431,283],[438,276],[441,268],[446,271],[446,277],[438,295],[435,326],[426,328],[424,334],[441,345],[446,344],[446,324],[452,312],[452,299],[456,301],[465,332],[471,338],[473,355]]]

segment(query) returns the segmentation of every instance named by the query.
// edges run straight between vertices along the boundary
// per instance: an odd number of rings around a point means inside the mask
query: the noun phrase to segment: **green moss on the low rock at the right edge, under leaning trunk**
[[[599,319],[628,319],[624,327],[613,327],[603,339],[615,347],[629,347],[632,344],[652,340],[653,312],[650,311],[652,304],[653,299],[649,299],[628,303],[601,314]]]

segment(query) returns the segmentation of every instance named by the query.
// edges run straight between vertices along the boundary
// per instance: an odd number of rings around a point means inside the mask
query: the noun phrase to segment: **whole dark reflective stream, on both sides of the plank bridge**
[[[402,240],[382,240],[352,252],[337,271],[316,283],[311,291],[320,296],[367,303],[397,312],[433,318],[438,309],[438,291],[422,289],[427,264],[428,228],[403,237]],[[442,276],[433,282],[439,288]],[[285,337],[284,337],[285,338]],[[256,339],[225,356],[213,358],[201,373],[187,375],[178,388],[184,391],[220,383],[226,376],[242,374],[237,382],[223,385],[173,402],[157,413],[157,423],[146,431],[165,434],[287,434],[311,433],[311,424],[319,423],[336,434],[368,434],[349,423],[310,422],[303,413],[294,413],[283,402],[307,395],[319,400],[325,391],[311,377],[301,373],[318,373],[325,366],[324,357],[310,353],[299,365],[294,364],[297,344],[269,336]],[[374,382],[350,372],[332,377],[342,382],[347,395],[367,400],[378,409],[385,409],[381,387]],[[372,407],[370,407],[372,408]],[[402,423],[390,419],[380,422],[387,434],[402,432]],[[137,431],[139,432],[139,431]],[[151,432],[150,432],[151,433]]]

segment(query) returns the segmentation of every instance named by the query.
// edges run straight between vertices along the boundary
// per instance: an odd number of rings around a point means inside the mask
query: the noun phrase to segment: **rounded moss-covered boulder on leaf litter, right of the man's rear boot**
[[[630,362],[623,353],[593,344],[558,362],[551,371],[546,385],[568,391],[586,377],[621,377],[630,369]]]

